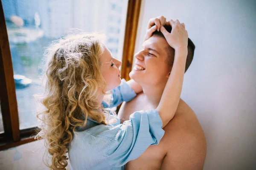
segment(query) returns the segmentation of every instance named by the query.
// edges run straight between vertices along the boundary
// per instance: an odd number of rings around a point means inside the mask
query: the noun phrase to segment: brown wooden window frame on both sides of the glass
[[[131,72],[141,0],[128,0],[121,77],[129,80]],[[4,133],[0,134],[0,150],[35,141],[36,128],[20,130],[12,56],[6,21],[0,0],[0,105]]]

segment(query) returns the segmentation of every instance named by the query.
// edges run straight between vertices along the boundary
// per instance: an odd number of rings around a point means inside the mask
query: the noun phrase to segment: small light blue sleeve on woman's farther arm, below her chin
[[[130,101],[136,96],[134,90],[129,86],[125,79],[121,80],[121,84],[112,90],[112,99],[110,107],[115,107],[123,101]]]

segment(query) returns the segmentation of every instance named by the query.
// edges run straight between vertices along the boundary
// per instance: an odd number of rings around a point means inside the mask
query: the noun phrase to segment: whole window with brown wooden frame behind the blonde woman
[[[7,144],[0,145],[0,150],[3,150],[31,141],[30,138],[24,139],[24,137],[35,133],[36,108],[32,95],[40,94],[43,90],[39,79],[42,75],[39,64],[44,46],[47,46],[49,41],[61,37],[69,28],[83,29],[87,32],[100,31],[108,38],[113,38],[113,43],[107,42],[106,46],[116,53],[113,56],[122,60],[123,47],[125,47],[125,58],[134,50],[135,38],[125,41],[124,37],[136,37],[137,23],[134,24],[132,20],[137,20],[139,17],[141,1],[1,0],[0,2],[3,7],[0,8],[0,19],[6,20],[6,25],[0,25],[1,34],[8,34],[9,40],[6,36],[0,37],[0,86],[4,93],[0,93],[0,104],[5,106],[3,108],[8,108],[0,110],[0,143],[7,141]],[[122,10],[116,11],[116,7]],[[111,12],[112,9],[115,9],[115,12]],[[113,20],[108,21],[111,14]],[[125,20],[133,24],[128,24],[125,28]],[[114,34],[109,32],[110,26],[116,26]],[[120,31],[125,29],[135,31]],[[8,42],[9,49],[4,48],[3,44],[6,45]],[[129,50],[131,52],[128,53]],[[9,79],[10,77],[13,79]],[[3,127],[3,124],[6,126]],[[12,143],[8,144],[10,141]]]

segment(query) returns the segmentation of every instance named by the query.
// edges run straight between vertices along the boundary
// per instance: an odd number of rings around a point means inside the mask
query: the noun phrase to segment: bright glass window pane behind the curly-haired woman
[[[122,60],[128,0],[2,0],[20,119],[20,129],[37,124],[33,94],[43,92],[39,64],[49,41],[67,29],[103,32],[113,57]]]

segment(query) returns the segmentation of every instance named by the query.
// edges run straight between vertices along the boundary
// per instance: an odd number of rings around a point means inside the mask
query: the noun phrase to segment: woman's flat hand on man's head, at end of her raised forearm
[[[166,38],[167,43],[177,50],[186,50],[188,46],[188,32],[185,29],[185,24],[180,23],[179,20],[170,20],[169,24],[172,26],[172,32],[169,33],[166,29],[161,25],[160,30]]]

